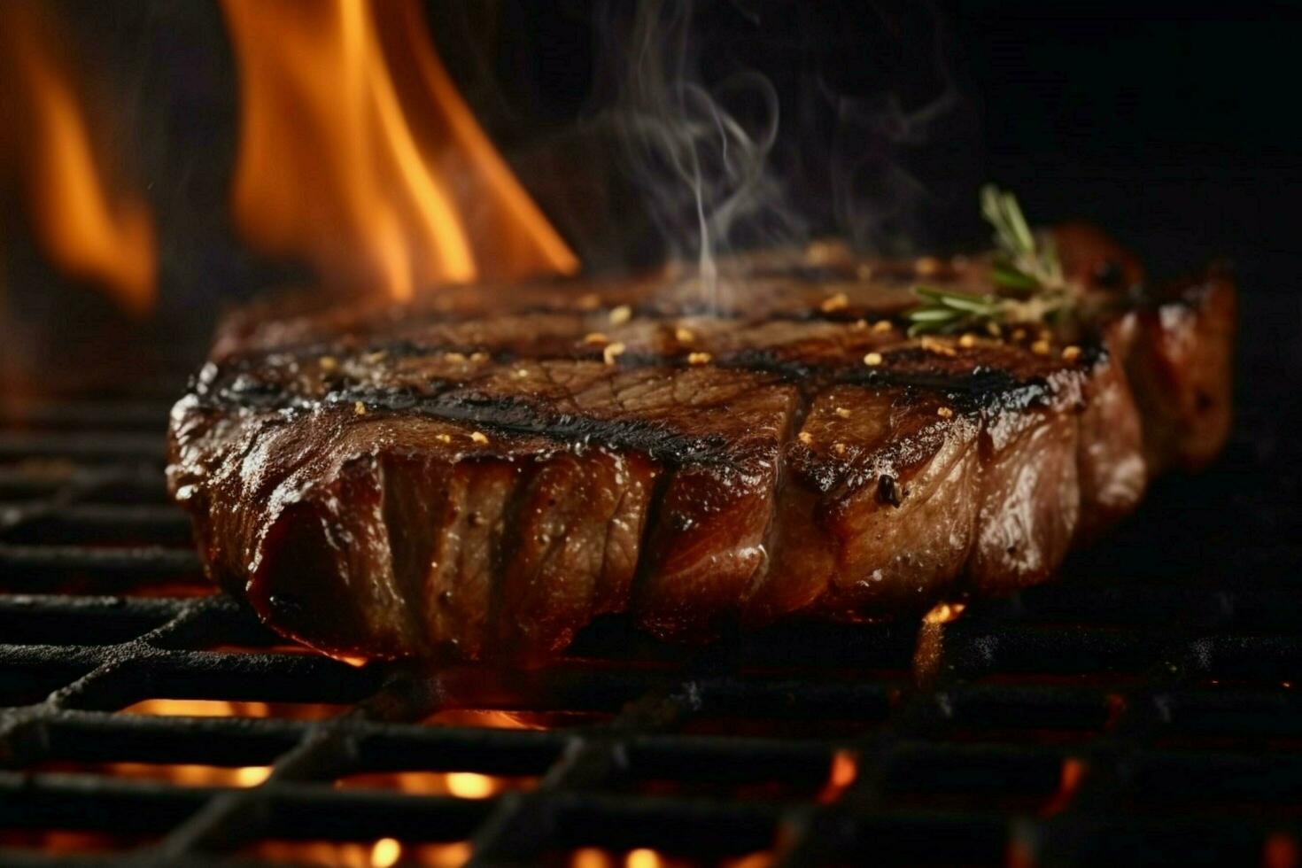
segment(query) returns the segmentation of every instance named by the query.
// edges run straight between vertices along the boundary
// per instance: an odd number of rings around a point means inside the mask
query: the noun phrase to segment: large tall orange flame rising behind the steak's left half
[[[242,104],[233,211],[260,250],[396,299],[578,268],[457,95],[417,3],[221,5]]]

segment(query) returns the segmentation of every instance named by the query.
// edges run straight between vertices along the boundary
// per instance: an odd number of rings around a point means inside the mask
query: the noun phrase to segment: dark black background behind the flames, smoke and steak
[[[250,255],[229,226],[237,107],[220,9],[59,5],[99,120],[158,213],[159,320],[198,358],[223,306],[306,276]],[[426,5],[464,94],[585,262],[663,252],[607,125],[628,64],[621,25],[639,4]],[[690,14],[693,81],[755,69],[772,82],[769,170],[806,236],[979,245],[975,191],[993,180],[1032,220],[1098,221],[1159,273],[1232,259],[1246,346],[1262,354],[1249,367],[1299,370],[1302,4],[729,0]],[[23,252],[21,208],[4,203],[10,316],[109,316],[68,303],[87,293],[49,289],[59,276]]]

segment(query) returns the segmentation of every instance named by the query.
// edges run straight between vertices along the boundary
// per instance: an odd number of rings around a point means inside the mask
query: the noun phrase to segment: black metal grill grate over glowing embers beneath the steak
[[[76,841],[109,864],[279,864],[297,851],[259,843],[298,841],[389,864],[384,838],[413,859],[469,842],[430,860],[482,864],[641,847],[746,865],[1302,851],[1282,440],[1240,437],[1210,475],[1159,484],[1069,580],[950,623],[794,625],[685,652],[608,622],[546,670],[431,675],[288,648],[211,596],[165,502],[164,414],[130,396],[4,416],[0,861],[53,864],[68,854],[49,845]],[[160,699],[268,713],[138,713]],[[191,786],[122,764],[270,772]],[[349,785],[413,773],[523,783]]]

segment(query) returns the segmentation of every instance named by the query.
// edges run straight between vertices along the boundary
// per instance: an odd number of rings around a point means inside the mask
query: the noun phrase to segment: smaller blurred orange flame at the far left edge
[[[0,143],[0,157],[10,157],[23,176],[46,255],[69,275],[103,285],[128,312],[143,315],[154,305],[154,224],[141,199],[107,183],[91,147],[85,98],[56,48],[64,42],[42,7],[0,4],[0,52],[12,64],[18,112],[0,129],[0,137],[13,134]]]

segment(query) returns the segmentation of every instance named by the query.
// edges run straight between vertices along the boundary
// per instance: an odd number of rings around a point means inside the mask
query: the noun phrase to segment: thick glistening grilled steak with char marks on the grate
[[[250,308],[173,410],[169,483],[212,576],[339,655],[1018,588],[1229,423],[1228,278],[1128,301],[1133,259],[1059,241],[1107,311],[1077,334],[907,338],[918,265],[850,260],[758,264],[710,307],[658,276]],[[980,260],[922,268],[988,292]]]

